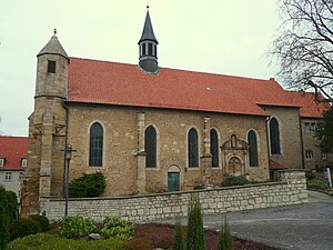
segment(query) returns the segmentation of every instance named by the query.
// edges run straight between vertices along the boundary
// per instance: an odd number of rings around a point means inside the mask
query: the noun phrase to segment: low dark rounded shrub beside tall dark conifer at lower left
[[[10,239],[14,240],[17,238],[22,238],[40,232],[40,224],[34,220],[20,218],[11,224],[9,231]]]

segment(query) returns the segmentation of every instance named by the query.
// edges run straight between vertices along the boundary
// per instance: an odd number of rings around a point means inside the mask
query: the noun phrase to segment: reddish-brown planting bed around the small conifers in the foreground
[[[48,233],[57,233],[58,223],[51,223]],[[98,229],[102,229],[102,224],[98,224]],[[155,248],[172,250],[172,241],[174,236],[173,226],[144,223],[137,224],[135,237],[149,239],[154,243]],[[213,230],[205,231],[205,242],[208,250],[218,250],[218,232]],[[262,243],[233,238],[233,250],[279,250]]]

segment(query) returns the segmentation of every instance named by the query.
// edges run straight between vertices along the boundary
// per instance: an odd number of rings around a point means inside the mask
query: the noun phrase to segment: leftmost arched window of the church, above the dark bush
[[[95,122],[90,128],[89,166],[101,167],[103,163],[103,128]]]

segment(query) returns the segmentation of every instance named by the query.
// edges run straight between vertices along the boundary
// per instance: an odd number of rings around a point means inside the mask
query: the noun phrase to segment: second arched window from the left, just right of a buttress
[[[144,151],[147,153],[145,167],[157,167],[157,131],[152,126],[149,126],[144,131]]]

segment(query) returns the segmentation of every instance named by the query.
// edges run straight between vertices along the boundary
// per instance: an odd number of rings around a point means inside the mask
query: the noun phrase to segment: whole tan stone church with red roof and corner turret
[[[39,197],[63,197],[68,146],[70,179],[100,171],[103,196],[216,187],[229,174],[265,181],[276,169],[330,160],[313,134],[326,107],[312,93],[274,79],[161,68],[158,46],[149,9],[138,64],[69,57],[54,30],[37,54],[28,213]]]

